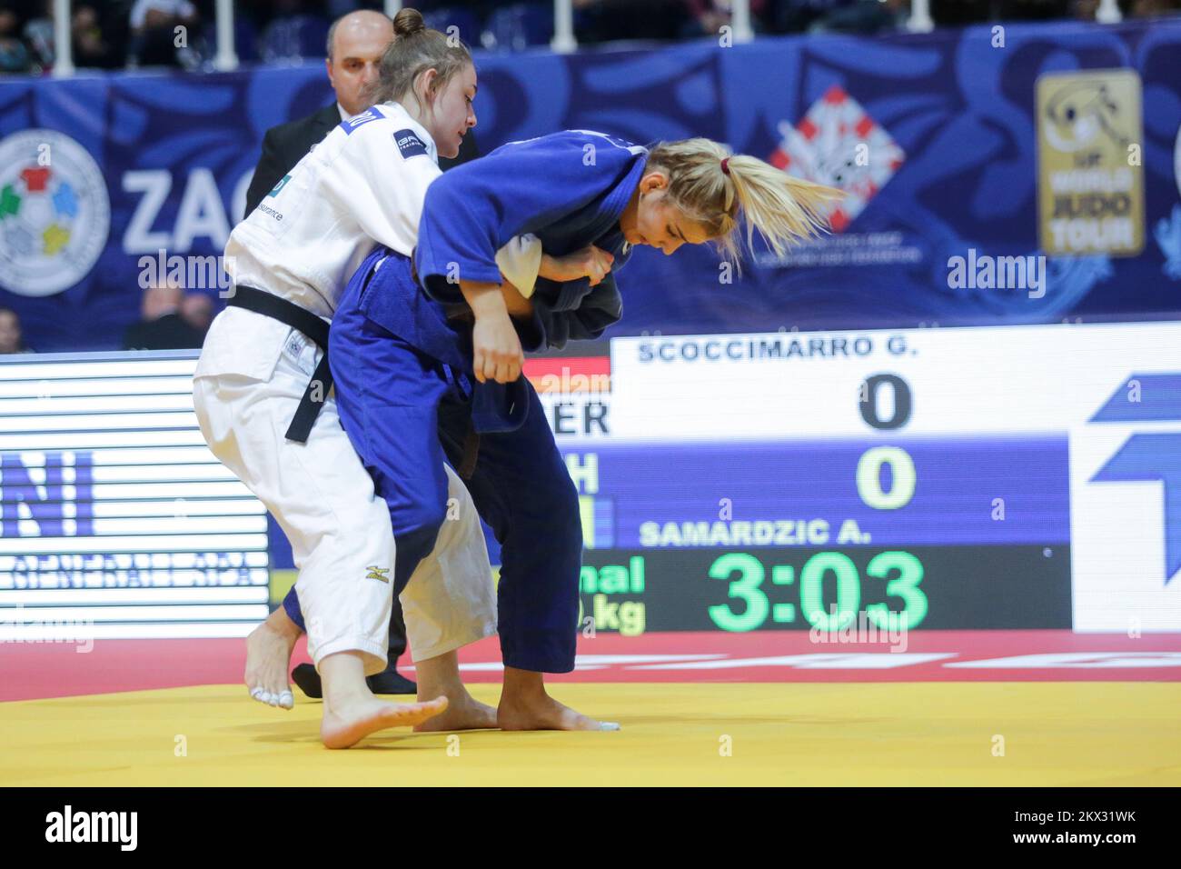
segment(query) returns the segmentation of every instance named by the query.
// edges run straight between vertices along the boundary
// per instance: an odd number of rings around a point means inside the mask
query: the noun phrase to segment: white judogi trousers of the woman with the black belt
[[[229,317],[227,318],[227,314]],[[228,310],[209,330],[202,361],[226,358],[242,326],[274,320]],[[279,324],[281,326],[281,324]],[[281,326],[286,329],[285,326]],[[255,335],[255,338],[262,338]],[[295,590],[307,627],[308,654],[360,651],[365,673],[386,666],[394,539],[385,501],[340,426],[328,396],[307,443],[285,437],[322,351],[289,330],[269,380],[198,365],[193,403],[210,450],[274,514],[292,544]],[[496,592],[479,515],[459,478],[446,468],[449,510],[435,550],[402,592],[406,638],[415,661],[442,655],[496,633]],[[374,570],[376,569],[376,570]],[[378,578],[384,571],[385,578]]]

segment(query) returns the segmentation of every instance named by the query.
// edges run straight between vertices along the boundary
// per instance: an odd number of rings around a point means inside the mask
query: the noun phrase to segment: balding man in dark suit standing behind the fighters
[[[334,127],[368,108],[365,95],[378,78],[381,54],[392,39],[393,22],[379,12],[351,12],[332,24],[328,28],[328,57],[325,65],[332,89],[337,92],[337,102],[306,118],[267,130],[262,138],[262,158],[254,169],[254,177],[250,179],[250,188],[246,194],[247,214]],[[459,145],[459,155],[454,160],[439,160],[439,168],[446,171],[476,156],[476,141],[469,132]],[[402,604],[394,597],[390,617],[390,663],[384,673],[366,679],[370,690],[374,694],[417,692],[417,686],[397,672],[398,657],[405,650],[406,623],[402,616]],[[301,663],[292,670],[292,681],[311,698],[321,695],[320,674],[312,664]]]

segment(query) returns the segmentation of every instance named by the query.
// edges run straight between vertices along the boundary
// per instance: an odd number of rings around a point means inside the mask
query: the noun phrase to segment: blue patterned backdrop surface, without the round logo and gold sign
[[[798,248],[788,262],[757,248],[737,283],[719,280],[709,248],[671,258],[639,249],[619,281],[624,320],[613,335],[1176,314],[1181,22],[1010,25],[1005,35],[1004,47],[992,45],[991,28],[976,27],[730,48],[705,40],[650,51],[477,56],[477,138],[490,150],[563,128],[644,143],[703,135],[789,170],[831,135],[866,137],[890,155],[862,173],[836,235]],[[1143,252],[1050,257],[1037,297],[952,286],[948,258],[970,248],[992,257],[1040,253],[1038,77],[1120,67],[1138,73],[1143,93]],[[139,258],[159,249],[220,253],[240,219],[266,130],[331,100],[321,64],[0,83],[0,154],[21,130],[70,136],[94,158],[111,203],[105,247],[80,281],[35,296],[13,292],[0,272],[0,305],[20,313],[35,349],[118,346],[138,316]],[[831,163],[820,170],[857,171]],[[78,179],[64,182],[59,197],[77,189]],[[63,214],[71,207],[54,205]],[[0,218],[0,247],[2,229]]]

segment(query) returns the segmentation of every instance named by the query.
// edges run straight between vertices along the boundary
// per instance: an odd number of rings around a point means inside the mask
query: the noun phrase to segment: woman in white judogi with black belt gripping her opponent
[[[455,650],[495,633],[496,604],[476,510],[450,468],[456,518],[402,596],[420,702],[379,701],[365,685],[386,662],[394,539],[340,427],[325,354],[350,275],[378,242],[413,249],[438,154],[454,156],[476,123],[466,50],[446,46],[416,17],[396,20],[383,60],[384,73],[412,83],[411,108],[385,102],[341,123],[234,229],[226,247],[233,296],[194,375],[205,441],[275,515],[300,569],[306,623],[280,609],[250,636],[248,687],[256,699],[292,705],[287,660],[306,627],[328,747],[393,726],[496,726],[495,709],[458,681]]]

